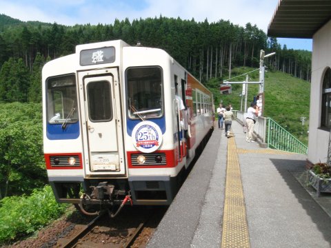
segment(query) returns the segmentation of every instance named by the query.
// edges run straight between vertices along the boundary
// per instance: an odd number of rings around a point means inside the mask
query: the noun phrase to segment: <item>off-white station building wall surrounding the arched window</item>
[[[308,160],[326,162],[330,132],[321,125],[321,97],[324,72],[331,68],[331,21],[314,34],[312,42],[312,85],[310,91],[310,117]]]

